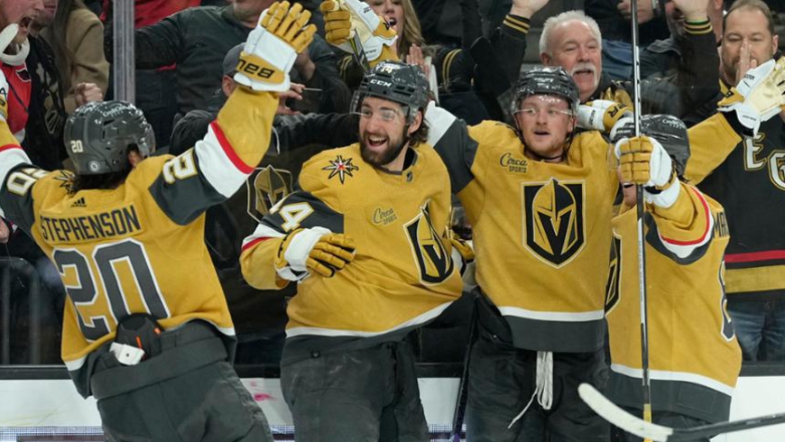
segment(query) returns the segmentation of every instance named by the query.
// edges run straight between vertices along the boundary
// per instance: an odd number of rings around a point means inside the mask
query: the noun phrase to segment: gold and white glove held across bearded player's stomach
[[[355,242],[324,227],[300,228],[283,238],[275,271],[287,281],[300,281],[310,273],[330,278],[355,259]]]

